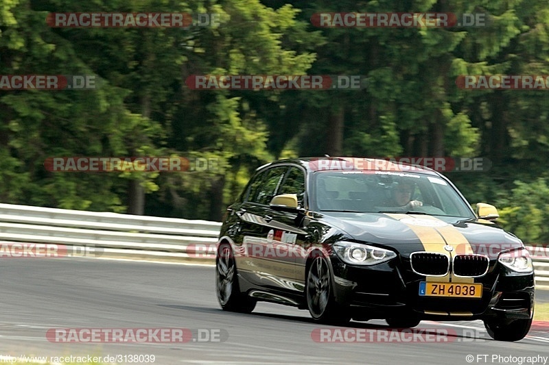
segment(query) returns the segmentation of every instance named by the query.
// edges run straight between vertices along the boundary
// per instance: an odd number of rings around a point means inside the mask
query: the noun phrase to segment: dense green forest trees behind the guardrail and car
[[[209,12],[212,27],[52,28],[49,12]],[[485,13],[486,27],[317,28],[317,12]],[[543,228],[549,95],[460,90],[548,75],[544,0],[5,0],[0,75],[96,75],[97,90],[0,91],[0,201],[220,219],[253,169],[296,155],[482,156],[453,173],[526,240]],[[364,75],[363,90],[191,90],[191,75]],[[187,173],[51,173],[57,156],[213,159]],[[535,228],[533,227],[535,226]]]

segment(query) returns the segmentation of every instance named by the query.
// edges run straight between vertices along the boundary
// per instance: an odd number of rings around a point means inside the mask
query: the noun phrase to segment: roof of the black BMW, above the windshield
[[[307,157],[307,158],[290,158],[278,160],[265,164],[257,171],[268,166],[279,164],[298,164],[303,166],[308,172],[316,171],[392,171],[401,173],[425,173],[428,175],[440,174],[432,168],[421,166],[418,164],[408,164],[399,162],[397,159],[380,159],[380,158],[356,158],[356,157]]]

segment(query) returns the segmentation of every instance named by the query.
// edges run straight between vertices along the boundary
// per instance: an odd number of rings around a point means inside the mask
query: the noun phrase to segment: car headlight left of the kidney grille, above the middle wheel
[[[355,242],[336,242],[334,251],[347,264],[375,265],[397,257],[393,251]]]

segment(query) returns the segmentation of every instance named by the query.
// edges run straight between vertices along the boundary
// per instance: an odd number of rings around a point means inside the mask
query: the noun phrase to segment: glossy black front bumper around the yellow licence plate
[[[482,297],[447,298],[419,295],[426,277],[412,272],[409,261],[395,259],[375,266],[351,266],[331,257],[334,295],[349,307],[353,318],[399,318],[423,320],[475,320],[532,318],[534,274],[515,273],[493,261],[487,275],[475,278]],[[454,278],[454,282],[460,279]]]

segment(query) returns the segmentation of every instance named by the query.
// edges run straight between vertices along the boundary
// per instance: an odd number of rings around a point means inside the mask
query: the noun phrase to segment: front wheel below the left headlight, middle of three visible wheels
[[[331,270],[327,260],[324,257],[316,257],[307,270],[307,308],[317,323],[344,325],[351,320],[351,316],[349,310],[336,303],[331,281]]]

